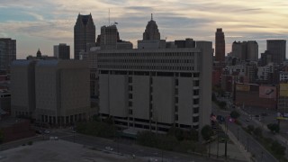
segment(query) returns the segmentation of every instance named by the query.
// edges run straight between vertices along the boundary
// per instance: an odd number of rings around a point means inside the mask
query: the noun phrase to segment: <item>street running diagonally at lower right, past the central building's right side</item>
[[[229,116],[229,111],[221,111],[217,108],[216,105],[213,105],[212,112],[214,114],[220,114],[225,117]],[[248,124],[257,125],[257,123],[254,123],[253,120],[247,123],[246,121],[247,118],[248,116],[246,114],[240,115],[238,120],[242,123],[242,126],[247,127]],[[278,161],[266,150],[266,148],[263,148],[262,145],[258,143],[256,139],[254,139],[245,130],[242,130],[241,126],[237,125],[234,122],[229,122],[228,120],[227,120],[227,126],[228,129],[235,135],[235,137],[237,137],[238,140],[242,143],[242,145],[245,146],[246,150],[255,156],[257,161],[262,162]]]

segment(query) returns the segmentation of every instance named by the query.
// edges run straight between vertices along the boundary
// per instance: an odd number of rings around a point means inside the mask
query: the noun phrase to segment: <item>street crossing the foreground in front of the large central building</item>
[[[190,162],[200,162],[200,161],[217,161],[215,159],[210,159],[208,157],[197,157],[190,156],[176,152],[164,151],[157,148],[147,148],[139,145],[133,144],[132,140],[117,141],[112,139],[102,139],[92,136],[86,136],[79,133],[73,133],[71,130],[51,130],[49,136],[57,136],[58,139],[64,139],[71,142],[76,142],[82,144],[86,147],[93,147],[97,150],[108,151],[105,147],[113,148],[115,154],[121,154],[125,156],[135,155],[135,157],[147,157],[154,158],[158,161],[190,161]],[[108,151],[110,152],[110,151]],[[163,158],[162,158],[163,157]],[[220,161],[220,160],[219,160]]]

